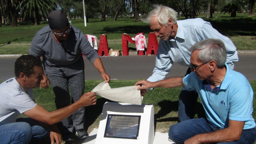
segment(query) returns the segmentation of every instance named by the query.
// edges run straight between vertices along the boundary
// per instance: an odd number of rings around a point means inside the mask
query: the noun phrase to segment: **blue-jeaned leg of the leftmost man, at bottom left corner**
[[[1,144],[27,144],[31,136],[31,126],[26,122],[14,122],[0,126]]]

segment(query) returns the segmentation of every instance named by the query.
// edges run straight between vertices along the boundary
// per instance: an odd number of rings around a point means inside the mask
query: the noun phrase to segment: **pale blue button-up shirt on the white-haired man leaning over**
[[[226,62],[231,69],[234,69],[234,62],[238,61],[236,46],[228,37],[215,30],[209,22],[196,18],[179,20],[177,25],[178,30],[174,39],[171,37],[167,41],[160,39],[156,54],[156,67],[148,81],[155,82],[165,79],[173,62],[191,67],[191,52],[188,49],[195,43],[209,38],[220,39],[224,42],[227,51]]]

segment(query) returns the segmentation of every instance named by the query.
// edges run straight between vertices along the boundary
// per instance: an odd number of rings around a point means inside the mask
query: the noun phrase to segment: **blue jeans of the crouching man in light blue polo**
[[[174,124],[169,129],[169,138],[176,143],[184,143],[187,139],[194,135],[202,133],[211,133],[219,130],[219,128],[212,126],[205,118],[195,118]],[[256,130],[254,128],[243,130],[242,135],[238,141],[221,142],[218,144],[253,144],[256,140]]]

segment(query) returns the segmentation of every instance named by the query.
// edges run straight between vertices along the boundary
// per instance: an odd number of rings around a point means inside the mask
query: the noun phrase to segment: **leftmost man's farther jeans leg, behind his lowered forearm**
[[[33,120],[32,118],[18,118],[16,120],[16,123],[18,122],[26,122],[29,124],[30,129],[32,131],[31,135],[30,135],[30,144],[36,143],[36,141],[40,141],[39,139],[42,139],[44,137],[49,136],[50,134],[50,129],[49,128],[45,128],[43,126],[41,126],[39,123],[37,123],[35,120]],[[18,128],[16,128],[18,129]],[[18,130],[20,130],[22,128],[19,128]]]

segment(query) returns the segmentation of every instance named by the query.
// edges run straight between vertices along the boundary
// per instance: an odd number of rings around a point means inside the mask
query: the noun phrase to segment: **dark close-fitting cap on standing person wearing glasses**
[[[68,18],[62,10],[50,11],[47,19],[51,29],[62,29],[69,26]]]

